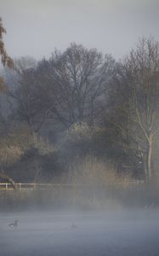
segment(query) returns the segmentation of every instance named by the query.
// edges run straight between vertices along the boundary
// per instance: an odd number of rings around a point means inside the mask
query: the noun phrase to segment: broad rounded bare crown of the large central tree
[[[43,60],[41,81],[48,84],[48,119],[56,119],[65,129],[83,121],[93,124],[114,64],[111,55],[104,58],[96,49],[77,44]]]

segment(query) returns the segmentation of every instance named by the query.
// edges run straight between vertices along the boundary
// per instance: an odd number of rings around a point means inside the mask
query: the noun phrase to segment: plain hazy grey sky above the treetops
[[[159,40],[159,0],[0,0],[12,57],[48,57],[71,42],[127,54],[139,37]]]

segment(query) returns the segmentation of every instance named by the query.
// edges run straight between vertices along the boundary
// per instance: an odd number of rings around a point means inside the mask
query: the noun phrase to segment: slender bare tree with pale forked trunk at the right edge
[[[153,145],[159,131],[159,43],[142,38],[126,60],[133,92],[133,114],[139,129],[139,146],[145,163],[145,178],[152,177]]]

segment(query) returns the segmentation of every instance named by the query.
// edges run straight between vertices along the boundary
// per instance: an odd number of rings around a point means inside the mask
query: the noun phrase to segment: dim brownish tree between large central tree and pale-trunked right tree
[[[105,116],[102,123],[105,125],[107,138],[112,158],[116,160],[119,172],[122,166],[129,166],[129,171],[136,177],[143,176],[143,157],[136,137],[139,129],[133,115],[133,89],[128,79],[128,71],[117,63],[109,89]],[[128,172],[129,172],[128,171]]]

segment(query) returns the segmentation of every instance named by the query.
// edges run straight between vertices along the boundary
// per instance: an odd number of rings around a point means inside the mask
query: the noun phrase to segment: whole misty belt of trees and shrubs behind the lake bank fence
[[[159,43],[116,61],[71,44],[3,67],[0,165],[17,182],[158,178]]]

